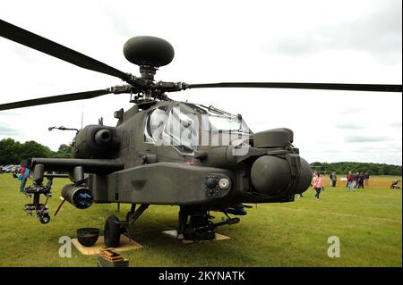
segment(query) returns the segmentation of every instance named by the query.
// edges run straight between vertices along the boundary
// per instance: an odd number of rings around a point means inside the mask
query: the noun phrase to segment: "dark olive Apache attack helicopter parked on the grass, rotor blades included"
[[[105,73],[126,84],[80,93],[47,96],[0,105],[1,110],[89,99],[106,94],[131,94],[134,105],[115,112],[116,127],[89,125],[73,139],[73,158],[30,158],[33,184],[26,188],[39,221],[50,220],[41,194],[51,197],[52,180],[69,177],[62,197],[79,209],[93,203],[127,203],[124,221],[107,218],[107,247],[149,205],[179,205],[178,239],[214,239],[215,229],[239,222],[229,214],[246,214],[247,203],[292,202],[309,188],[312,170],[293,146],[293,131],[280,128],[253,133],[241,115],[169,99],[167,93],[192,88],[307,88],[401,92],[401,85],[289,82],[224,82],[187,84],[154,80],[159,67],[174,58],[164,39],[134,37],[124,44],[125,58],[140,67],[140,77],[118,71],[87,55],[0,20],[0,36],[68,63]],[[185,133],[185,135],[183,135]],[[52,174],[62,172],[68,174]],[[44,178],[48,182],[44,184]],[[139,205],[136,208],[136,205]],[[58,209],[57,209],[58,210]],[[210,211],[227,216],[211,222]],[[56,211],[57,212],[57,211]]]

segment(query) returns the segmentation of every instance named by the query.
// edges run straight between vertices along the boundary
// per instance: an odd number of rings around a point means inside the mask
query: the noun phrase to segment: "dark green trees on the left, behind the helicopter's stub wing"
[[[0,165],[20,164],[22,159],[30,157],[72,157],[72,147],[60,145],[57,151],[43,146],[34,140],[20,143],[13,138],[0,140]]]

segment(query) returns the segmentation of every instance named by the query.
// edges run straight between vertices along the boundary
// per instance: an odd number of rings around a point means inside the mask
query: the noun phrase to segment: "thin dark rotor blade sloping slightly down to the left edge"
[[[1,104],[0,111],[30,107],[30,106],[35,106],[35,105],[47,105],[47,104],[59,103],[59,102],[90,99],[93,97],[102,96],[102,95],[106,95],[109,93],[111,93],[110,89],[100,89],[100,90],[94,90],[94,91],[71,93],[71,94],[64,94],[64,95],[57,95],[57,96],[48,96],[48,97],[24,100],[24,101],[19,101],[19,102]]]

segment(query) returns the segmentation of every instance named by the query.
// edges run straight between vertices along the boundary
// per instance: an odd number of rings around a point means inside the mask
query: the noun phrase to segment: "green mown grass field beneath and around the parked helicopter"
[[[402,193],[389,189],[394,179],[401,178],[372,177],[372,187],[354,193],[339,182],[319,201],[308,189],[295,203],[253,206],[240,223],[219,229],[231,237],[223,241],[184,245],[164,236],[176,228],[178,207],[150,206],[131,228],[144,247],[122,256],[131,266],[402,266]],[[129,205],[116,213],[116,205],[78,210],[65,203],[55,217],[59,190],[68,183],[55,181],[51,221],[43,225],[22,211],[31,199],[19,193],[19,181],[0,175],[1,266],[96,266],[96,256],[74,247],[71,258],[59,257],[59,238],[75,238],[81,227],[103,230],[108,215],[123,218]],[[214,215],[220,221],[222,214]],[[339,237],[339,258],[327,255],[330,236]]]

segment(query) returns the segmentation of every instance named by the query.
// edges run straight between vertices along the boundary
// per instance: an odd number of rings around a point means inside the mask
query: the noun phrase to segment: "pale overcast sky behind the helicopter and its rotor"
[[[402,3],[362,1],[2,1],[0,19],[140,75],[123,46],[165,38],[172,63],[156,80],[401,84]],[[121,80],[0,38],[0,104],[108,88]],[[176,100],[241,113],[254,131],[287,127],[310,163],[402,164],[402,94],[290,89],[194,89]],[[129,95],[0,112],[0,139],[53,150],[74,132],[48,127],[116,125]]]

